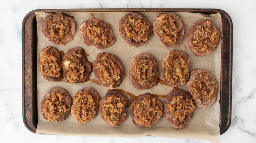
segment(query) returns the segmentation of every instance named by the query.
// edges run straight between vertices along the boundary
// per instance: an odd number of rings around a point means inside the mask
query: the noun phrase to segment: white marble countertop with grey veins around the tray
[[[1,142],[209,142],[164,137],[72,137],[36,135],[22,120],[22,21],[34,9],[60,8],[218,8],[233,22],[232,121],[220,142],[256,142],[256,1],[215,0],[13,0],[0,6],[0,141]]]

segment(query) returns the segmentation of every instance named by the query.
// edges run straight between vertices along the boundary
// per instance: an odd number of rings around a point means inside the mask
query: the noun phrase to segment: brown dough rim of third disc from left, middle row
[[[96,60],[95,60],[95,64],[97,64],[98,62],[100,62],[100,59],[101,59],[103,56],[107,55],[107,54],[109,54],[109,53],[101,53],[101,54],[98,54],[97,57],[96,57]],[[115,85],[112,85],[112,87],[118,87],[118,86],[121,84],[122,80],[123,80],[123,76],[124,76],[124,66],[123,66],[123,64],[121,63],[121,61],[119,60],[119,58],[118,58],[116,55],[109,54],[109,56],[110,56],[112,59],[115,60],[114,63],[118,66],[118,68],[119,68],[119,70],[120,70],[120,73],[121,73],[121,74],[119,75],[120,78],[117,80],[116,84],[115,84]],[[99,82],[101,85],[103,85],[103,86],[105,86],[105,87],[110,87],[110,84],[109,84],[107,81],[103,80],[103,79],[100,77],[100,75],[99,75],[99,73],[98,73],[97,67],[95,67],[95,69],[94,69],[94,74],[95,74],[96,79],[98,80],[98,82]]]

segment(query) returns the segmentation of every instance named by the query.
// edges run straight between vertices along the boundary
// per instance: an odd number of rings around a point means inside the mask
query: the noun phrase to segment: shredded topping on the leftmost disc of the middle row
[[[49,52],[51,47],[48,47],[45,52],[42,54],[43,56],[43,66],[41,67],[41,71],[44,75],[59,77],[61,70],[61,63],[57,63],[57,58],[53,56],[52,52]]]

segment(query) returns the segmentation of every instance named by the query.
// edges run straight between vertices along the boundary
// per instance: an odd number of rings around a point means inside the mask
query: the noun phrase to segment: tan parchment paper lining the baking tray
[[[102,14],[102,21],[109,23],[112,27],[113,34],[116,37],[116,42],[114,45],[99,50],[93,45],[87,46],[84,43],[80,33],[80,24],[84,21],[91,19],[90,13],[94,14],[95,18],[100,17],[100,13]],[[219,114],[220,114],[220,71],[221,71],[221,43],[219,41],[218,46],[215,48],[214,52],[211,54],[198,57],[195,56],[192,51],[190,50],[187,44],[187,35],[190,26],[200,20],[203,19],[210,19],[213,21],[214,24],[221,31],[221,16],[220,14],[214,15],[203,15],[198,13],[176,13],[180,18],[184,26],[184,36],[181,45],[178,48],[167,49],[166,47],[160,44],[159,38],[153,34],[152,38],[145,44],[139,47],[130,47],[121,37],[118,31],[118,22],[119,20],[130,12],[71,12],[65,13],[70,16],[74,16],[76,29],[75,34],[73,36],[73,40],[66,43],[66,45],[61,44],[53,44],[52,42],[48,41],[47,38],[44,37],[42,34],[41,28],[44,18],[49,14],[45,12],[36,12],[36,21],[37,21],[37,36],[38,36],[38,45],[37,45],[37,105],[38,105],[38,124],[36,129],[36,134],[54,134],[54,135],[72,135],[72,136],[120,136],[120,137],[140,137],[145,135],[152,135],[152,136],[161,136],[161,137],[172,137],[172,138],[188,138],[188,139],[206,139],[212,142],[220,142],[220,129],[219,129]],[[159,12],[141,12],[147,20],[153,26],[154,18],[159,14]],[[104,87],[101,85],[96,85],[95,83],[85,82],[85,83],[75,83],[72,85],[68,82],[57,81],[57,82],[50,82],[43,78],[42,73],[39,68],[39,53],[40,51],[47,47],[52,46],[57,48],[59,51],[66,52],[69,49],[74,47],[81,47],[83,48],[86,53],[89,55],[88,61],[94,62],[96,59],[97,54],[99,53],[112,53],[119,57],[122,64],[125,67],[125,75],[121,85],[117,88],[123,89],[127,92],[130,92],[134,95],[140,95],[144,93],[151,93],[151,94],[159,94],[159,95],[166,95],[170,93],[172,87],[158,84],[154,86],[152,89],[146,90],[137,90],[131,84],[128,74],[130,71],[131,59],[141,53],[148,53],[151,54],[158,63],[158,70],[160,72],[160,79],[162,79],[162,70],[161,70],[161,62],[162,59],[167,55],[170,50],[178,49],[184,51],[188,54],[190,59],[190,69],[191,71],[198,68],[198,69],[205,69],[208,70],[213,77],[217,80],[219,88],[218,94],[216,98],[216,102],[211,105],[209,108],[200,108],[195,106],[194,117],[189,121],[188,125],[181,129],[177,130],[171,126],[169,121],[163,115],[162,118],[158,123],[156,123],[151,128],[138,128],[132,123],[132,118],[130,116],[130,111],[128,108],[128,114],[126,120],[118,127],[112,127],[107,125],[100,116],[98,111],[97,116],[94,120],[88,122],[87,124],[80,125],[76,123],[75,119],[73,119],[71,113],[68,118],[63,122],[50,122],[43,119],[41,110],[40,110],[40,103],[43,96],[46,92],[52,87],[62,87],[66,89],[71,98],[73,99],[73,95],[80,89],[85,87],[92,87],[93,89],[98,92],[100,98],[102,99],[103,96],[107,93],[109,87]],[[90,79],[95,79],[94,72],[91,73]],[[188,88],[185,85],[179,87],[182,90],[188,91]],[[127,99],[129,98],[128,95]],[[159,99],[164,102],[165,99]]]

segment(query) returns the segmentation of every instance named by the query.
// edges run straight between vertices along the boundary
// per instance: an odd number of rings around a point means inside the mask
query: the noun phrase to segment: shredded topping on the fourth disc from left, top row
[[[164,42],[169,45],[173,45],[179,38],[178,33],[181,27],[176,24],[175,19],[166,14],[161,15],[160,21],[160,34],[163,37]]]

